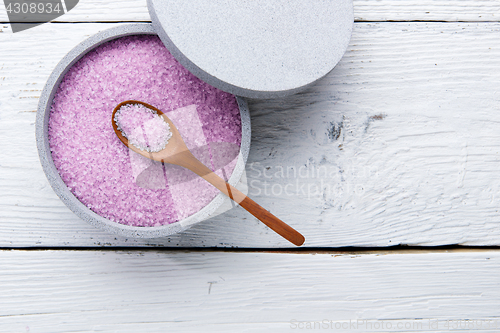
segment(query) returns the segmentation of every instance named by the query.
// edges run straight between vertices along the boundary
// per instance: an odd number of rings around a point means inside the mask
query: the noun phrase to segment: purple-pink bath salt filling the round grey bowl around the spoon
[[[219,143],[241,144],[235,96],[188,72],[157,36],[136,35],[84,55],[57,89],[48,137],[69,190],[95,213],[130,226],[174,223],[205,207],[219,193],[212,185],[190,171],[146,159],[118,139],[111,115],[127,100],[165,112],[197,158],[218,174],[221,167],[228,177],[233,172],[234,154]],[[141,130],[154,133],[148,120]],[[225,155],[230,156],[221,166]]]

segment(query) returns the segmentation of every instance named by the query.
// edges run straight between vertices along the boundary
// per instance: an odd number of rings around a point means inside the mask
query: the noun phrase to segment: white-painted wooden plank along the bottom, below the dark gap
[[[498,332],[499,269],[498,251],[1,251],[0,327],[293,332],[319,323],[320,331]]]

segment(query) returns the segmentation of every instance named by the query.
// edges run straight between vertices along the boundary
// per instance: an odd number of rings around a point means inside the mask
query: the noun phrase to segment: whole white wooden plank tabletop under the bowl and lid
[[[40,91],[145,0],[16,34],[0,4],[0,332],[498,332],[500,1],[354,9],[326,78],[249,101],[250,194],[305,235],[292,251],[241,208],[153,240],[77,218],[38,160]]]

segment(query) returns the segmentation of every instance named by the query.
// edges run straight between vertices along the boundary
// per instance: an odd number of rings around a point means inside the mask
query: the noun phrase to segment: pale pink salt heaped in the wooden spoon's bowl
[[[114,121],[129,144],[147,152],[165,149],[172,137],[170,125],[142,104],[127,104],[118,109]]]

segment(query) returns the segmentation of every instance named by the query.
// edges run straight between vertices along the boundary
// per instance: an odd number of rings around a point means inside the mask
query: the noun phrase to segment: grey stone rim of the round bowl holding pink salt
[[[116,223],[94,213],[87,206],[81,203],[73,195],[73,193],[71,193],[71,191],[61,179],[54,165],[48,141],[48,122],[52,100],[59,87],[59,84],[61,83],[64,75],[68,72],[68,70],[86,53],[96,48],[97,46],[112,39],[138,34],[156,35],[156,32],[154,31],[151,24],[122,25],[97,33],[68,52],[68,54],[59,62],[59,64],[57,64],[56,68],[47,80],[47,83],[45,84],[45,87],[40,96],[36,117],[36,141],[38,154],[40,156],[40,162],[50,185],[59,196],[59,198],[61,198],[61,200],[64,202],[64,204],[66,204],[66,206],[68,206],[68,208],[71,209],[78,217],[87,221],[95,227],[121,236],[136,238],[156,238],[181,232],[193,226],[194,224],[213,216],[214,214],[216,214],[216,210],[221,207],[224,201],[227,199],[222,193],[219,193],[208,205],[206,205],[197,213],[181,221],[161,227],[133,227]],[[233,186],[235,186],[240,181],[240,178],[245,171],[245,163],[248,158],[251,136],[248,105],[243,98],[236,98],[238,106],[240,108],[242,138],[238,160],[234,171],[229,178],[229,183]]]

